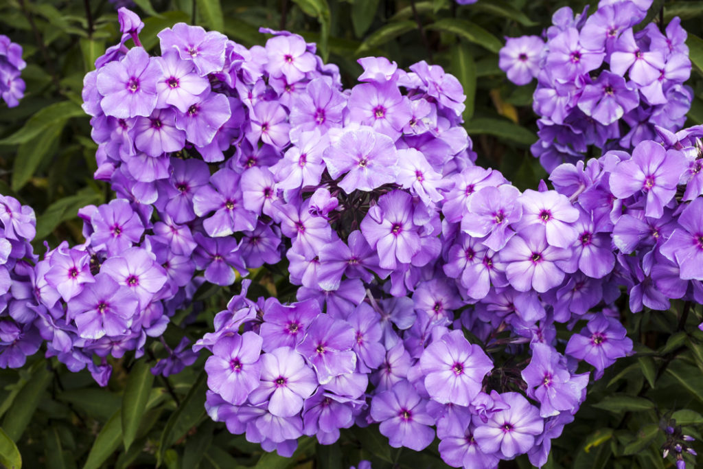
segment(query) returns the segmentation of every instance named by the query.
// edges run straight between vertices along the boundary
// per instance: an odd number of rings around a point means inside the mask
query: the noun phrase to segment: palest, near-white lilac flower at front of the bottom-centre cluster
[[[303,399],[317,388],[317,378],[303,357],[290,347],[278,347],[259,359],[261,383],[249,395],[252,404],[268,401],[274,416],[292,417],[303,408]]]

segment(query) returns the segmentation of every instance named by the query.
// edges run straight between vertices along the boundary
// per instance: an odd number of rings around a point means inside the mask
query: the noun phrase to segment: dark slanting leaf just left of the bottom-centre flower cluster
[[[181,405],[171,414],[159,441],[157,462],[160,463],[167,449],[179,438],[198,425],[205,416],[205,391],[207,391],[207,375],[202,371],[198,379],[186,394]]]

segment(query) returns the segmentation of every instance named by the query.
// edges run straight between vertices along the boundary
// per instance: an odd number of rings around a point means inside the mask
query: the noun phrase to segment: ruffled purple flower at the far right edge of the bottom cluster
[[[575,412],[588,385],[588,373],[571,375],[566,359],[553,347],[534,342],[532,359],[522,370],[522,379],[529,386],[528,395],[540,402],[539,415],[556,416],[560,411]]]

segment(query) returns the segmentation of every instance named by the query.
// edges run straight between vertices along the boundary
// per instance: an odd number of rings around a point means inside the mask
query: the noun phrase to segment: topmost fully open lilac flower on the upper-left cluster
[[[217,31],[205,32],[200,26],[176,23],[157,34],[162,53],[176,49],[181,60],[191,61],[198,75],[222,70],[227,37]]]

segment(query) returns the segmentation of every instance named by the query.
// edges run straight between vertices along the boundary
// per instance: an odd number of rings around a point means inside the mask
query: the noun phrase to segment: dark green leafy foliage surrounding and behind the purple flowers
[[[498,69],[504,37],[541,34],[554,11],[581,11],[584,0],[134,0],[122,2],[146,23],[141,40],[158,45],[156,34],[183,21],[224,32],[252,46],[263,44],[259,27],[290,30],[318,44],[336,63],[345,86],[361,72],[356,59],[386,56],[407,68],[418,60],[442,65],[460,79],[467,95],[465,127],[478,163],[500,169],[520,188],[546,176],[529,146],[536,141],[531,110],[534,82],[515,86]],[[120,5],[117,5],[120,6]],[[595,5],[593,5],[595,8]],[[703,1],[655,0],[650,20],[680,16],[689,33],[694,72],[688,84],[695,101],[688,124],[703,123]],[[646,24],[646,23],[643,23]],[[93,181],[96,144],[89,117],[80,107],[82,80],[105,49],[119,40],[116,5],[107,0],[0,0],[0,32],[24,49],[25,98],[17,108],[0,108],[0,193],[13,195],[37,212],[35,249],[60,240],[82,241],[79,207],[110,199],[107,184]],[[593,155],[597,156],[597,155]],[[254,295],[283,300],[285,275],[254,273]],[[165,342],[196,338],[233,291],[198,293],[193,309],[176,316]],[[677,316],[676,312],[683,311]],[[703,333],[696,325],[700,305],[675,304],[665,313],[628,316],[638,354],[619,361],[589,391],[589,397],[553,442],[550,468],[666,468],[661,425],[671,418],[701,439],[703,424]],[[194,314],[190,314],[194,313]],[[194,320],[183,321],[186,317]],[[681,319],[679,319],[679,317]],[[185,323],[187,322],[187,323]],[[41,352],[19,371],[0,371],[0,463],[25,468],[348,468],[360,459],[374,468],[440,468],[436,444],[422,454],[392,449],[375,428],[342,432],[333,446],[302,439],[292,459],[264,454],[257,444],[213,423],[203,408],[205,375],[201,356],[194,366],[168,379],[148,372],[163,344],[148,356],[115,361],[107,389],[87,372],[70,373]],[[674,360],[676,358],[676,360]],[[141,412],[134,412],[141,409]],[[703,447],[694,447],[703,454]],[[527,458],[504,463],[529,467]]]

